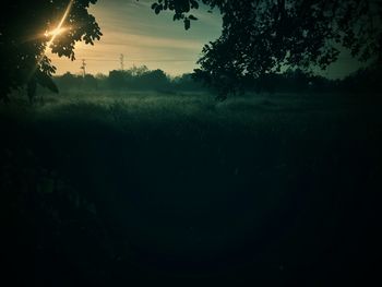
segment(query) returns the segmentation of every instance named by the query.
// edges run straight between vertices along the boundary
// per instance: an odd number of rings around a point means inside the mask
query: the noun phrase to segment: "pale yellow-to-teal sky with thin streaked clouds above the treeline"
[[[57,68],[57,74],[67,71],[80,74],[82,60],[86,73],[108,74],[121,68],[145,64],[148,69],[162,69],[171,76],[192,72],[201,56],[203,46],[215,40],[222,32],[222,16],[217,10],[207,13],[201,7],[192,12],[199,20],[186,31],[183,23],[172,21],[172,12],[156,15],[151,9],[154,0],[98,0],[89,11],[96,17],[104,36],[94,46],[79,43],[75,61],[48,53]],[[321,72],[327,77],[343,77],[355,71],[359,64],[344,52],[339,60]]]

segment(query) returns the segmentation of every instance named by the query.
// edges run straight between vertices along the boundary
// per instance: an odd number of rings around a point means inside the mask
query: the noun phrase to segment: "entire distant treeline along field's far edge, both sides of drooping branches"
[[[302,70],[287,70],[284,73],[270,73],[258,79],[248,79],[241,92],[248,93],[380,93],[382,91],[382,69],[373,65],[360,69],[342,80],[331,80],[312,75]],[[114,70],[108,75],[74,75],[67,72],[56,76],[60,91],[72,89],[119,89],[156,91],[163,93],[207,91],[193,74],[177,77],[168,76],[162,70],[147,67],[133,67],[129,70]]]

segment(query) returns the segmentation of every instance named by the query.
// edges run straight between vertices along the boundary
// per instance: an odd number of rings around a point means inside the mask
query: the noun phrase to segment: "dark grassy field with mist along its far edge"
[[[40,286],[372,278],[381,107],[366,96],[112,92],[1,105],[9,274]]]

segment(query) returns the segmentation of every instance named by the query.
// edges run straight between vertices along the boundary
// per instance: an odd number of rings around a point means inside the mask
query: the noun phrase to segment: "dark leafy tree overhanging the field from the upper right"
[[[248,79],[283,67],[326,69],[343,49],[361,61],[382,61],[381,0],[157,0],[190,27],[200,3],[223,15],[222,36],[205,45],[195,76],[235,93]]]

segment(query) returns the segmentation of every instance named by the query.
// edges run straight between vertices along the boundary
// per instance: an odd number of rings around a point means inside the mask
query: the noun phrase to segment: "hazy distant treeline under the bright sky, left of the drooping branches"
[[[148,70],[147,67],[133,67],[129,70],[114,70],[108,75],[74,75],[67,72],[55,77],[59,89],[121,89],[156,92],[194,92],[205,87],[192,79],[192,74],[170,77],[162,70]]]

